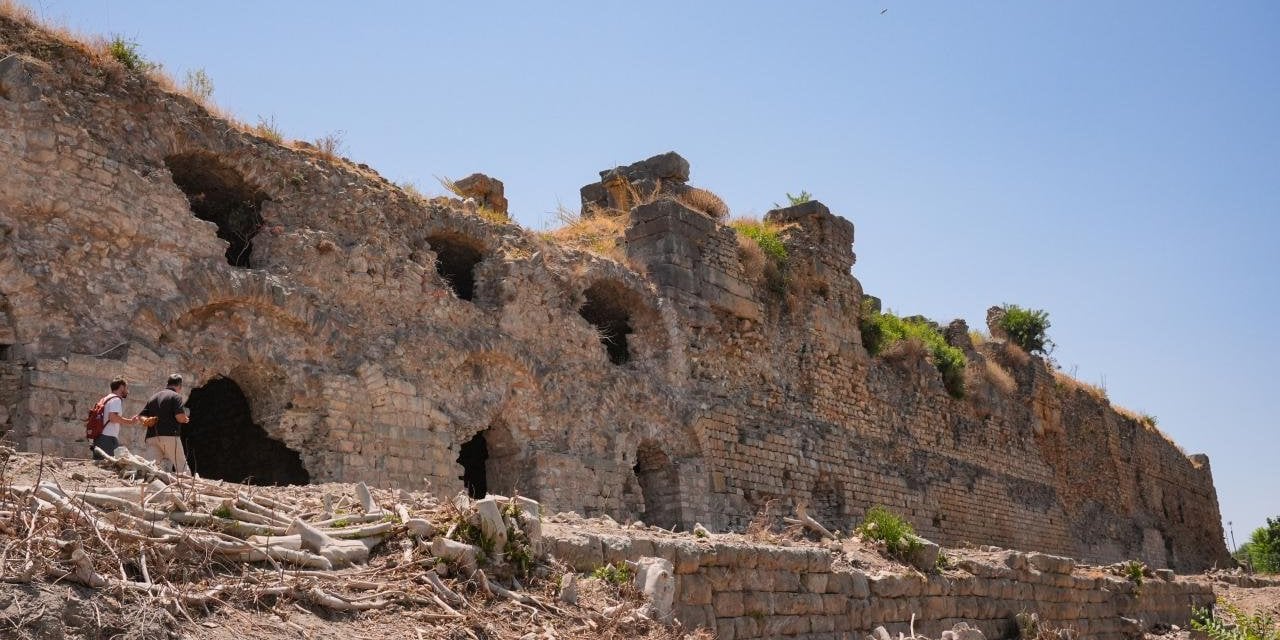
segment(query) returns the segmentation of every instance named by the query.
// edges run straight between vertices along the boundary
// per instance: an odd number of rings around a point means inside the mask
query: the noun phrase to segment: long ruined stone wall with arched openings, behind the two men
[[[1206,457],[965,332],[970,369],[1011,390],[974,376],[955,399],[923,358],[868,356],[852,224],[769,211],[787,279],[762,283],[707,211],[621,196],[685,193],[678,156],[584,188],[625,201],[620,264],[0,18],[0,430],[28,451],[87,453],[113,375],[133,412],[179,371],[210,477],[518,492],[712,530],[804,500],[847,531],[884,504],[943,544],[1228,562]]]

